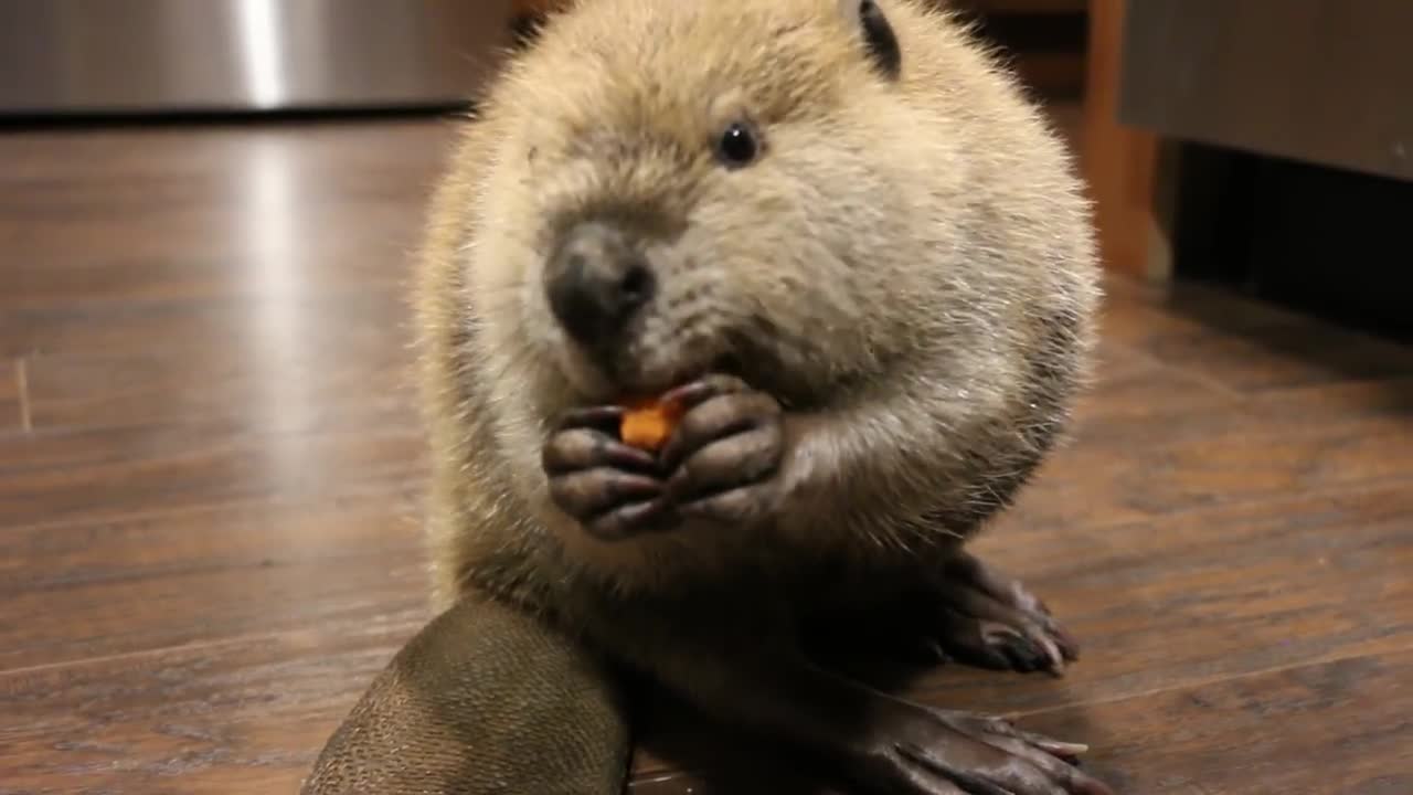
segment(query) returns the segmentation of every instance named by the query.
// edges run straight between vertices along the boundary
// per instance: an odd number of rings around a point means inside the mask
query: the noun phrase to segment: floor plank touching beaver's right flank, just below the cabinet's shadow
[[[1106,399],[1102,373],[1074,441],[1041,468],[1006,521],[1047,528],[1157,519],[1290,494],[1332,494],[1406,480],[1413,379],[1349,382],[1194,406],[1161,386],[1130,390],[1146,409]],[[1106,409],[1118,405],[1118,409]],[[1094,506],[1102,505],[1101,512]]]

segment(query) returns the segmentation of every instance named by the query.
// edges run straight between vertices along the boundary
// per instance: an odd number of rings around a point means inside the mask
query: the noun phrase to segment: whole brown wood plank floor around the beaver
[[[447,141],[0,134],[0,794],[292,794],[428,617],[403,289]],[[1413,349],[1111,290],[1077,441],[981,545],[1082,659],[917,695],[1128,795],[1413,792]],[[634,788],[794,791],[728,750]]]

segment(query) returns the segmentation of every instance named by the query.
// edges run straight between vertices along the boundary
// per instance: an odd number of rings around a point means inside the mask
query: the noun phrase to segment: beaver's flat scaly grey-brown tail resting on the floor
[[[463,598],[379,673],[301,795],[620,795],[619,680],[512,607]]]

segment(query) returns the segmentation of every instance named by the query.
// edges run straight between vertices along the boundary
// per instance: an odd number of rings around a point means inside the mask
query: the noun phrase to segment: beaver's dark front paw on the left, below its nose
[[[666,513],[657,461],[619,441],[622,417],[620,406],[569,412],[543,450],[550,499],[605,540],[649,530]]]

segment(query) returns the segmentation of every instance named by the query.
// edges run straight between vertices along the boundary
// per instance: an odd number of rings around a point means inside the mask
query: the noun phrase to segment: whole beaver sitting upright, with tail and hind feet
[[[307,791],[619,792],[623,671],[866,791],[1109,792],[1084,745],[801,641],[906,613],[964,663],[1077,659],[965,542],[1088,382],[1088,214],[1036,103],[921,0],[552,16],[465,126],[418,260],[442,614]],[[681,407],[661,450],[619,436],[643,396]]]

